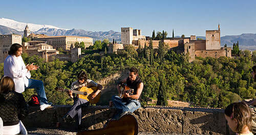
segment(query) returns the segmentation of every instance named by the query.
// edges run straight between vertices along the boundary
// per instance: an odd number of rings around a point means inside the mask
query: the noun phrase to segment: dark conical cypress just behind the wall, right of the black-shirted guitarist
[[[158,96],[157,96],[157,105],[164,105],[167,106],[167,92],[166,92],[166,83],[165,83],[165,77],[161,77],[159,90],[158,90]]]

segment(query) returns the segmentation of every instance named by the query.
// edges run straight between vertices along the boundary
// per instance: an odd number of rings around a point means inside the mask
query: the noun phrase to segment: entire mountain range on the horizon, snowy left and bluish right
[[[91,37],[95,40],[103,40],[108,38],[110,41],[113,38],[117,41],[121,41],[121,33],[115,31],[108,32],[92,32],[85,31],[81,29],[61,29],[52,25],[41,25],[33,23],[18,22],[11,19],[0,18],[0,34],[24,34],[25,26],[28,24],[29,29],[34,34],[46,34],[48,36],[84,36]],[[205,39],[203,36],[197,36],[197,38]],[[241,34],[241,35],[232,35],[232,36],[223,36],[221,37],[221,46],[227,44],[227,46],[232,46],[233,43],[239,41],[239,45],[245,48],[256,49],[256,34]]]

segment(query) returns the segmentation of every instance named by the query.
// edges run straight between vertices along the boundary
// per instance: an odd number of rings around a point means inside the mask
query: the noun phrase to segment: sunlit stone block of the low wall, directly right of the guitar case
[[[134,114],[140,132],[181,133],[181,110],[140,108]]]

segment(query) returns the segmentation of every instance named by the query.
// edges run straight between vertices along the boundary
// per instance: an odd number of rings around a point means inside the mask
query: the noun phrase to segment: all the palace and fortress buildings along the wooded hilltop
[[[75,62],[83,57],[81,48],[75,48],[75,42],[84,42],[85,47],[93,45],[93,38],[78,37],[78,36],[52,36],[44,34],[33,34],[30,32],[28,25],[24,30],[24,36],[31,41],[23,43],[24,51],[29,56],[37,55],[44,58],[46,61],[51,61],[55,58],[60,60],[68,60]],[[160,40],[153,40],[153,48],[158,48]],[[133,28],[121,28],[121,43],[110,43],[109,53],[118,53],[123,50],[125,45],[133,45],[138,48],[139,44],[142,47],[149,46],[150,37],[142,36],[141,30]],[[13,43],[22,44],[22,35],[0,35],[0,62],[4,62],[8,56],[8,50]],[[206,40],[197,40],[196,36],[184,38],[164,38],[164,44],[168,45],[169,49],[176,53],[189,54],[189,62],[195,60],[196,57],[231,57],[231,47],[221,47],[220,40],[220,25],[218,30],[206,30]],[[68,54],[59,54],[56,49],[69,51]],[[85,49],[85,48],[84,48]]]

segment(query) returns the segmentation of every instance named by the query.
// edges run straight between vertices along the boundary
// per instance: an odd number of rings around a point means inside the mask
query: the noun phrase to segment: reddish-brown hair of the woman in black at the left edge
[[[11,90],[15,90],[15,85],[11,77],[3,77],[1,79],[0,85],[0,93],[8,93]]]

